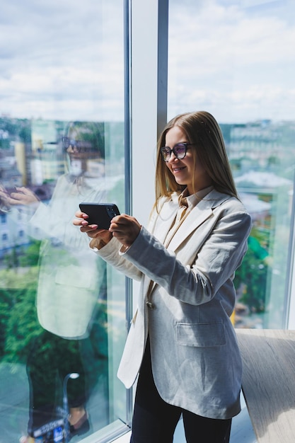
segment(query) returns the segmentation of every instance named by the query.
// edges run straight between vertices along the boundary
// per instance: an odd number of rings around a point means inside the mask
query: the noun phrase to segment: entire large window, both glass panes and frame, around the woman
[[[125,49],[124,4],[132,6],[133,21],[125,28],[133,39]],[[116,376],[127,332],[125,277],[88,250],[71,220],[82,201],[108,200],[125,211],[132,197],[132,213],[146,224],[156,132],[166,121],[166,6],[157,0],[1,4],[5,442],[28,433],[39,443],[108,442],[129,424],[130,394]],[[287,321],[294,266],[294,9],[292,0],[169,1],[168,119],[201,109],[216,117],[253,217],[248,253],[236,272],[237,327],[281,328]]]

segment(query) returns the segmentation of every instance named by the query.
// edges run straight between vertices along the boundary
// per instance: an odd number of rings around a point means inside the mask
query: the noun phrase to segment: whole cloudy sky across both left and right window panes
[[[294,0],[169,8],[168,117],[295,119]],[[124,119],[122,0],[2,0],[0,33],[0,115]]]

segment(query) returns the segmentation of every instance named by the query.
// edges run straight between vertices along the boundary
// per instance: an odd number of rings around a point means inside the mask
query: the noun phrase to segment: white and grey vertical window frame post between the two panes
[[[125,0],[125,209],[146,224],[154,204],[154,156],[167,121],[168,0]],[[126,278],[126,320],[139,286]],[[134,393],[127,392],[127,425]]]

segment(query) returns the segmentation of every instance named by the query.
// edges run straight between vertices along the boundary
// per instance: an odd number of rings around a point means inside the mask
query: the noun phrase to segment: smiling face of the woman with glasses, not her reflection
[[[190,141],[179,126],[173,126],[166,132],[165,145],[173,149],[175,144],[178,143],[190,143]],[[196,154],[196,161],[194,161],[193,149],[195,149],[195,145],[188,146],[187,154],[182,160],[177,159],[173,152],[171,152],[170,159],[166,162],[166,166],[173,174],[175,181],[179,185],[186,185],[189,194],[207,188],[207,186],[212,184],[211,178],[199,163]]]

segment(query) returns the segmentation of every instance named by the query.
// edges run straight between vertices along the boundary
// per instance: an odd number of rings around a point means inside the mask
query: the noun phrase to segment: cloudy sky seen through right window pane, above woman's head
[[[170,7],[170,114],[295,118],[295,5],[208,0]],[[224,2],[223,2],[224,3]],[[255,4],[254,4],[255,3]],[[279,14],[277,13],[279,8]],[[290,20],[290,17],[293,19]]]

